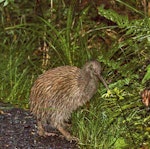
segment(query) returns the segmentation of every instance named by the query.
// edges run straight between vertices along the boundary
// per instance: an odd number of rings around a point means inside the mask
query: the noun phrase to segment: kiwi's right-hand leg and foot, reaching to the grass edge
[[[58,125],[57,129],[68,141],[78,141],[78,138],[71,136],[71,134],[68,131],[66,131],[62,126]]]

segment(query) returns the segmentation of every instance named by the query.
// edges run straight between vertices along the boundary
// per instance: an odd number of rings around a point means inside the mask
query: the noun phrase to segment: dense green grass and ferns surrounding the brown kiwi
[[[150,146],[150,115],[140,96],[150,86],[148,1],[0,2],[0,101],[28,109],[39,74],[97,59],[110,91],[100,84],[91,102],[73,113],[79,146]]]

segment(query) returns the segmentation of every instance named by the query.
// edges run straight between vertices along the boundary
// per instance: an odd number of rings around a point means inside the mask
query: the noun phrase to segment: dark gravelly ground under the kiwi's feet
[[[59,133],[54,137],[40,137],[36,120],[29,111],[6,107],[0,103],[0,148],[3,149],[77,149]]]

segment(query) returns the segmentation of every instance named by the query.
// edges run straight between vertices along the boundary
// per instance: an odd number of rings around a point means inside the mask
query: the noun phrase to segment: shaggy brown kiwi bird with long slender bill
[[[66,129],[71,113],[89,101],[98,89],[99,80],[108,89],[98,61],[88,61],[81,69],[60,66],[40,75],[30,94],[30,110],[37,118],[38,134],[50,136],[46,124],[56,128],[67,140],[75,140]]]

